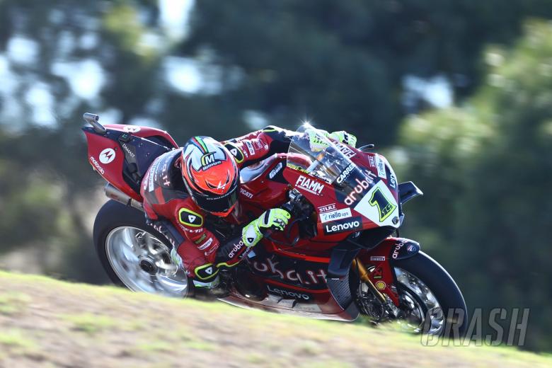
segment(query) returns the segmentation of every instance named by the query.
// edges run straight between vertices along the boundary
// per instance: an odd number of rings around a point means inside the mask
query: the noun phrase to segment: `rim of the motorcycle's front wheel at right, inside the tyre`
[[[444,328],[444,313],[435,294],[422,280],[410,272],[395,268],[395,273],[398,283],[406,289],[400,293],[401,306],[407,306],[410,310],[407,318],[399,321],[401,328],[413,333],[441,335]],[[428,317],[429,321],[427,321]]]

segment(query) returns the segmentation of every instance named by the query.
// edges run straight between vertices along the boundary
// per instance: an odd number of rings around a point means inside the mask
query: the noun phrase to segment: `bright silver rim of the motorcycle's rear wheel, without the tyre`
[[[188,277],[171,262],[171,249],[149,232],[132,226],[110,231],[105,251],[111,268],[134,292],[185,297]]]

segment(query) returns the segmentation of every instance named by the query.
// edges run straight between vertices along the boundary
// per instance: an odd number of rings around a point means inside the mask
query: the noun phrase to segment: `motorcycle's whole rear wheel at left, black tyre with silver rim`
[[[96,215],[93,239],[113,283],[134,292],[188,295],[188,276],[171,262],[171,245],[138,209],[109,200]]]

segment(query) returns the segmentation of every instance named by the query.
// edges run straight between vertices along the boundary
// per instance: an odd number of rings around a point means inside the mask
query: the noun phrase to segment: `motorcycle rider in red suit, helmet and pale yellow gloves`
[[[159,156],[142,181],[144,210],[149,224],[173,246],[171,258],[192,277],[195,289],[212,295],[226,293],[219,271],[231,268],[246,256],[266,229],[282,231],[291,215],[285,209],[268,209],[245,226],[236,224],[239,170],[272,154],[287,152],[295,132],[269,126],[243,137],[217,142],[211,137],[192,137],[181,149]],[[356,137],[346,132],[325,134],[355,146]],[[320,146],[309,136],[311,146]],[[212,224],[234,222],[236,236],[221,242]],[[237,230],[237,231],[236,231]]]

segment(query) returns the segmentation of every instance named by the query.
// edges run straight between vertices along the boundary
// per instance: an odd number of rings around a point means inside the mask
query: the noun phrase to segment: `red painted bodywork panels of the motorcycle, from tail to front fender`
[[[108,132],[109,130],[116,130],[118,132],[130,132],[142,138],[160,137],[171,146],[178,147],[171,136],[162,130],[136,127],[134,125],[105,125],[105,127],[108,128]],[[125,156],[121,154],[122,148],[119,142],[93,132],[85,133],[88,139],[88,161],[93,168],[117,189],[134,198],[134,200],[142,202],[142,197],[132,190],[122,178]],[[109,163],[100,162],[100,153],[105,149],[115,151],[115,159]],[[377,176],[376,167],[373,165],[375,154],[352,148],[350,150],[353,154],[350,157],[353,163],[372,171],[374,176]],[[287,154],[275,155],[271,159],[270,165],[265,168],[260,176],[247,183],[241,183],[239,198],[243,212],[258,216],[266,209],[278,207],[287,202],[287,192],[294,188],[293,184],[297,183],[300,176],[306,174],[287,167],[286,158]],[[275,171],[278,165],[280,165],[280,171],[282,171],[282,176],[287,183],[283,183],[284,180],[277,181],[269,178],[268,173]],[[317,180],[313,177],[309,178]],[[387,178],[381,180],[384,180],[398,202],[398,185],[396,183],[390,185]],[[319,209],[328,205],[335,206],[335,209],[343,209],[349,206],[338,200],[332,185],[323,181],[319,184],[323,185],[323,189],[318,195],[295,187],[311,202],[317,212],[313,214],[313,217],[317,219],[316,229],[318,234],[312,238],[301,238],[294,246],[283,245],[282,243],[291,243],[290,239],[294,239],[299,234],[298,226],[295,224],[289,231],[289,237],[282,233],[274,234],[273,238],[279,243],[264,239],[258,246],[253,248],[255,256],[246,260],[251,269],[251,275],[248,277],[265,287],[267,298],[263,301],[254,301],[238,292],[234,292],[224,301],[241,306],[251,306],[256,309],[309,315],[315,318],[351,321],[357,317],[358,311],[356,314],[352,314],[340,306],[330,289],[328,289],[326,276],[328,275],[330,256],[333,248],[350,234],[360,230],[374,229],[378,225],[351,209],[355,216],[362,217],[362,229],[332,235],[324,234],[323,223],[318,213]],[[362,196],[363,194],[359,193],[359,195]],[[372,270],[370,273],[372,282],[374,284],[379,282],[380,286],[383,285],[381,282],[384,282],[385,287],[381,287],[380,291],[389,295],[396,305],[398,305],[398,295],[393,291],[394,273],[389,260],[394,248],[401,241],[403,239],[389,237],[372,251],[362,250],[357,255],[357,258],[362,260],[366,268]]]

